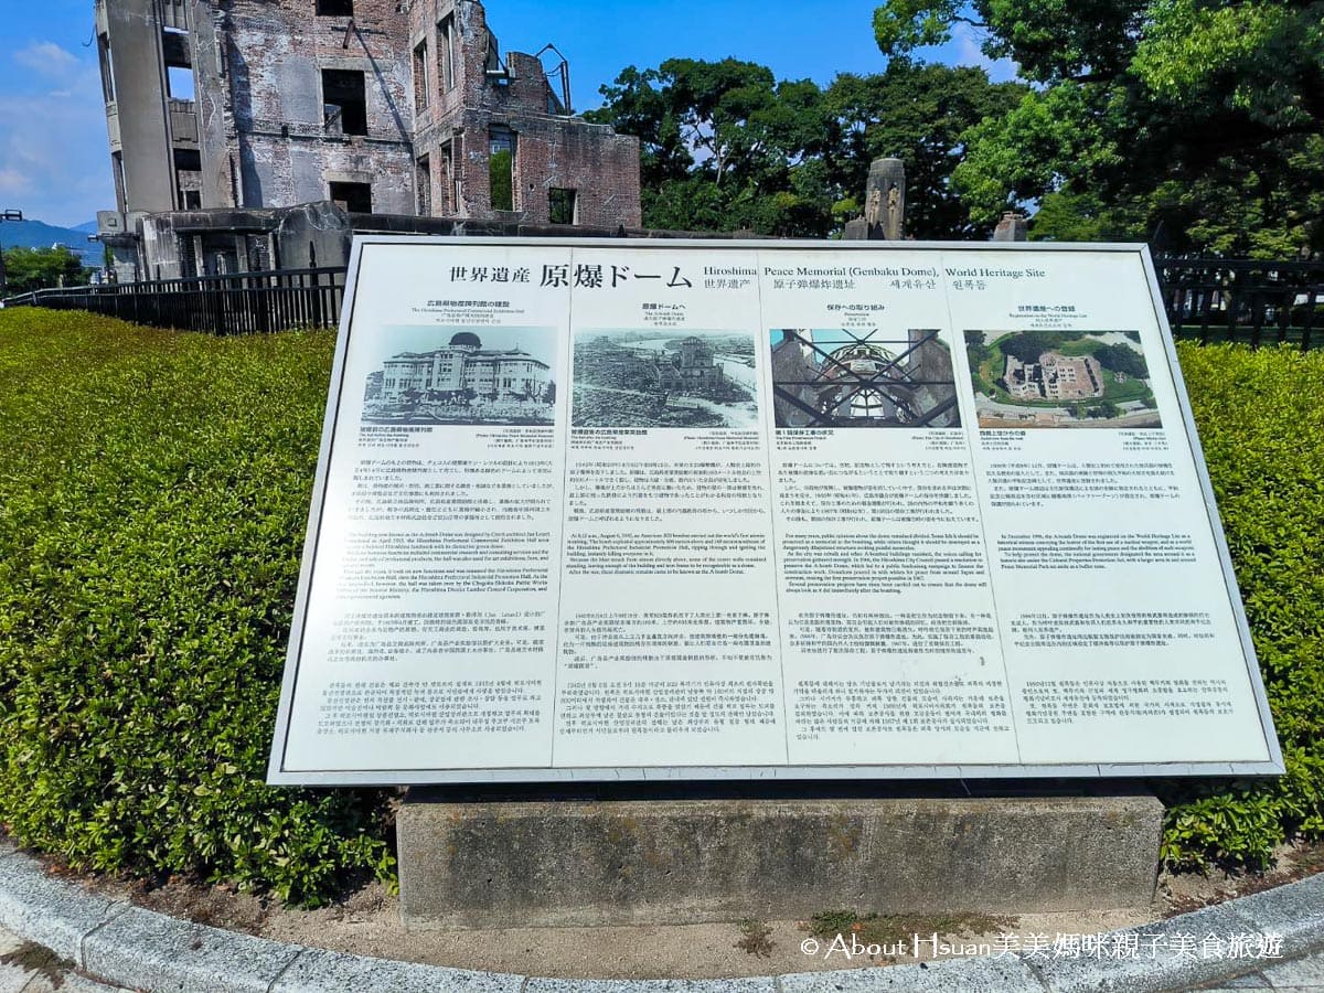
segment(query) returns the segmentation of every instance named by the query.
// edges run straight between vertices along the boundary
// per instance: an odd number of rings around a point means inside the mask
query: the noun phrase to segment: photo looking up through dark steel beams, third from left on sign
[[[779,428],[956,428],[952,352],[936,330],[772,332]]]

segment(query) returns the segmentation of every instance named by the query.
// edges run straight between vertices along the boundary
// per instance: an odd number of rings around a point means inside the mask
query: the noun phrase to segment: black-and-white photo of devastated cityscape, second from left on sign
[[[752,335],[588,330],[575,336],[576,428],[756,428]]]

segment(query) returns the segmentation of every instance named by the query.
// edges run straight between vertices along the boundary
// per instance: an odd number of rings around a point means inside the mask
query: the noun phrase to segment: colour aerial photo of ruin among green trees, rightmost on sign
[[[981,428],[1160,428],[1139,331],[967,331]]]

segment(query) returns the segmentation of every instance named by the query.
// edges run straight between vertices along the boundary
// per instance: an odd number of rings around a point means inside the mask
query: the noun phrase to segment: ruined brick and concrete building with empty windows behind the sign
[[[556,49],[503,54],[479,0],[95,16],[117,197],[99,226],[120,278],[336,262],[348,237],[328,225],[437,229],[400,216],[639,225],[637,139],[571,113]]]

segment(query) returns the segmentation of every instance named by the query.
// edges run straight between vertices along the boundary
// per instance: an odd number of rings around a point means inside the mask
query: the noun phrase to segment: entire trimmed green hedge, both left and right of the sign
[[[391,882],[389,794],[263,785],[334,336],[0,311],[0,820],[298,903]],[[1278,782],[1162,785],[1170,865],[1324,835],[1324,354],[1181,346]]]

